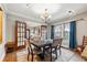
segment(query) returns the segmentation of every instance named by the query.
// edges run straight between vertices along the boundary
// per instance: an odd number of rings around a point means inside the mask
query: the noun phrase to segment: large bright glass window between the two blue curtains
[[[63,37],[63,46],[69,47],[69,23],[58,24],[54,28],[54,37]]]

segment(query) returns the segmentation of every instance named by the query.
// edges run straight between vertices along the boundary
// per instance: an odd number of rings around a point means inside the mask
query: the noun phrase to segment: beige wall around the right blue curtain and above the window
[[[79,19],[84,19],[84,20],[79,20]],[[83,36],[87,35],[87,12],[74,17],[74,20],[79,20],[76,22],[76,34],[77,34],[76,37],[77,37],[77,45],[81,45]],[[70,22],[69,18],[63,19],[61,21],[56,21],[55,23],[51,23],[51,24],[57,25],[68,22]]]

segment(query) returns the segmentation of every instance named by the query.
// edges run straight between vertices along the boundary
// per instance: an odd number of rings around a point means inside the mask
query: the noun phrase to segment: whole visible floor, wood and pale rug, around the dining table
[[[58,53],[58,51],[57,51]],[[31,55],[29,57],[29,62],[31,62]],[[8,53],[3,59],[3,62],[28,62],[28,52],[26,50],[21,50],[13,53]],[[37,55],[34,55],[34,62],[43,62]],[[50,57],[45,57],[45,62],[50,62]],[[85,62],[78,54],[62,48],[62,55],[58,54],[58,58],[55,62]]]

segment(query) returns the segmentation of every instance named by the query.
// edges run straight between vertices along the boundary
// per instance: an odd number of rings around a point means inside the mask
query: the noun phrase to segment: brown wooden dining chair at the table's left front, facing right
[[[28,39],[25,40],[25,45],[26,45],[26,48],[28,48],[28,61],[29,61],[29,57],[31,55],[32,56],[31,61],[33,62],[34,61],[33,59],[34,58],[34,55],[39,55],[42,52],[33,48],[30,40],[28,40]]]

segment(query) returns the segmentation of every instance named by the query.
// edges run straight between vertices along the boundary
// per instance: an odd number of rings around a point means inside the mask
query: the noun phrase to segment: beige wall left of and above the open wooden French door
[[[6,23],[6,29],[7,29],[7,42],[14,42],[14,36],[15,36],[15,21],[21,21],[24,22],[25,19],[13,15],[13,14],[7,14],[7,23]]]

